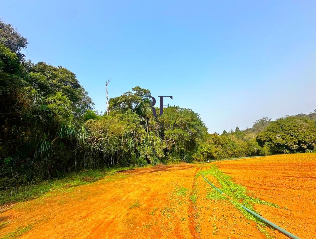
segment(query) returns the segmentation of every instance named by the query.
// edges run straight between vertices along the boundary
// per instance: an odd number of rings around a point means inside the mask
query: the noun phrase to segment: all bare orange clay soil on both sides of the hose
[[[262,216],[313,238],[315,161],[316,154],[296,154],[214,163],[249,193],[281,207],[254,205]],[[206,198],[211,188],[201,175],[195,177],[200,168],[180,164],[129,170],[17,203],[0,214],[0,238],[23,228],[28,230],[15,233],[19,238],[265,238],[229,200]],[[215,177],[207,177],[220,187]]]

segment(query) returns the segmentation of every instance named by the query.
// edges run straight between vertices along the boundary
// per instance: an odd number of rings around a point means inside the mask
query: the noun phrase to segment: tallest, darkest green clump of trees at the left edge
[[[93,108],[88,92],[66,68],[26,62],[26,45],[0,21],[0,188],[77,169],[85,154],[80,124]]]

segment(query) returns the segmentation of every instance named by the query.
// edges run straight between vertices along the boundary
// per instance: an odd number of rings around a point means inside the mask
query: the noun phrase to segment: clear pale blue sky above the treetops
[[[95,102],[134,86],[209,132],[316,108],[315,1],[3,1],[26,58],[76,73]]]

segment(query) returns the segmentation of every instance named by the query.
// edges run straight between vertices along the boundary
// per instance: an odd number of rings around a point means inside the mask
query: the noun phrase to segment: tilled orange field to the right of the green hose
[[[264,218],[301,238],[316,238],[316,154],[275,155],[215,164],[256,197],[281,207],[254,205]]]

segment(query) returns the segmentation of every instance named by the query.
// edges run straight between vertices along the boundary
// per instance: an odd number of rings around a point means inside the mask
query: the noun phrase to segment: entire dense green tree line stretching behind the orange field
[[[315,113],[262,118],[252,128],[209,134],[199,115],[178,106],[155,118],[150,90],[139,86],[94,104],[64,67],[25,60],[27,40],[0,21],[0,188],[108,165],[206,161],[311,152]],[[157,110],[159,110],[157,108]]]

